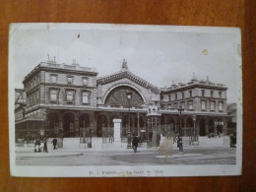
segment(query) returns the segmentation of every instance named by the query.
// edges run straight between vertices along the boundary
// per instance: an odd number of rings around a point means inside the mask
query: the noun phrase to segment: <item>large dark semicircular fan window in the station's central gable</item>
[[[130,106],[141,106],[144,104],[142,96],[140,96],[136,90],[126,86],[121,86],[112,90],[106,97],[105,104],[128,107],[128,98],[126,95],[128,91],[132,93]]]

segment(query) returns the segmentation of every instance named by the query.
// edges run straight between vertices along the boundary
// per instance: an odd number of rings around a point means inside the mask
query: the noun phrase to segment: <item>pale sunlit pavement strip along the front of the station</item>
[[[184,149],[200,149],[200,148],[226,148],[229,143],[225,141],[226,138],[207,138],[200,137],[199,138],[199,146],[189,146],[187,142],[187,138],[183,140],[183,148]],[[63,140],[63,148],[59,148],[57,150],[53,150],[53,146],[51,144],[51,139],[48,140],[47,148],[48,153],[34,153],[34,145],[25,145],[24,147],[16,147],[16,158],[63,158],[63,157],[78,157],[82,156],[85,153],[116,153],[116,152],[130,152],[131,149],[127,149],[126,143],[112,143],[112,144],[102,144],[102,138],[92,138],[92,148],[85,148],[85,145],[80,144],[80,138],[64,138]],[[160,144],[162,140],[160,141]],[[227,145],[228,143],[228,145]],[[42,146],[41,146],[42,147]],[[146,144],[139,148],[140,153],[152,153],[158,151],[158,148],[147,149]],[[177,152],[178,148],[176,144],[173,145],[171,149],[173,152]],[[200,156],[200,154],[189,155],[172,155],[172,158],[189,157],[189,156]],[[165,158],[165,156],[158,156],[157,159]]]

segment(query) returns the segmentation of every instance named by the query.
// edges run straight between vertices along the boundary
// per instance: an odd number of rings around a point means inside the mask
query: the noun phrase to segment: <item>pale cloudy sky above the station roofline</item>
[[[10,31],[10,64],[15,88],[40,62],[96,68],[97,77],[118,72],[123,59],[129,70],[153,85],[198,80],[224,84],[227,102],[240,90],[237,29],[168,26],[16,24]]]

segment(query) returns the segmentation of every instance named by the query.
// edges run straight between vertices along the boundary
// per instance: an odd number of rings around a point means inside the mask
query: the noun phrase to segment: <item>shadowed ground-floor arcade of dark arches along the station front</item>
[[[81,129],[90,130],[93,137],[102,137],[106,130],[112,130],[113,119],[121,119],[121,137],[126,137],[127,132],[147,133],[151,123],[147,110],[48,109],[44,119],[30,117],[17,121],[16,138],[33,138],[45,133],[48,137],[59,137],[60,134],[62,137],[80,137]],[[226,116],[192,115],[186,111],[181,116],[178,113],[162,112],[158,119],[158,129],[161,135],[166,132],[180,133],[182,136],[190,136],[192,132],[198,136],[229,134]]]

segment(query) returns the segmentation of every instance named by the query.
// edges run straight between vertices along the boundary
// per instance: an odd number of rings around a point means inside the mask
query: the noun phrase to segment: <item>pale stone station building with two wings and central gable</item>
[[[124,61],[119,72],[97,77],[95,69],[42,62],[24,79],[24,90],[16,90],[17,137],[47,133],[79,137],[81,128],[102,136],[122,119],[121,134],[127,129],[147,131],[147,107],[154,102],[161,109],[160,127],[189,135],[195,126],[199,135],[226,132],[226,90],[221,84],[198,81],[158,88],[133,74]],[[132,92],[130,101],[126,93]],[[179,116],[177,107],[184,111]],[[129,121],[130,116],[130,121]],[[195,116],[195,118],[193,118]],[[129,125],[130,122],[130,125]],[[21,134],[20,134],[21,133]]]

